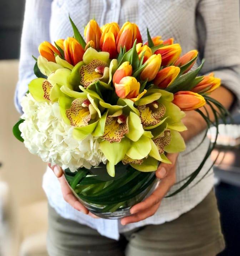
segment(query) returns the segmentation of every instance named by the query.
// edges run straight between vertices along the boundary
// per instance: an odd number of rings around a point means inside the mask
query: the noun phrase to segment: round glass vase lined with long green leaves
[[[90,212],[107,219],[130,215],[130,208],[152,193],[158,179],[155,172],[139,172],[130,165],[115,166],[111,177],[105,164],[91,169],[79,168],[64,175],[74,195]]]

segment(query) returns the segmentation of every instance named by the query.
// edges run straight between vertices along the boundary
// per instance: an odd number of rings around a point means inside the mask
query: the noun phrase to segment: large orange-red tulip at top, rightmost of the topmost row
[[[137,43],[142,43],[142,37],[138,26],[135,23],[130,23],[127,21],[121,27],[119,33],[117,34],[116,45],[117,52],[120,52],[120,47],[126,47],[126,50],[130,50],[137,39]]]

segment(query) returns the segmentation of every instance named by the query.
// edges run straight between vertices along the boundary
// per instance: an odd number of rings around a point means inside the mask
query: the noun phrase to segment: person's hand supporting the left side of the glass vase
[[[65,176],[62,175],[63,174],[62,168],[58,165],[51,166],[51,164],[48,164],[48,166],[53,170],[54,174],[56,175],[57,179],[60,182],[62,196],[64,200],[67,203],[69,203],[77,211],[80,211],[85,214],[89,214],[91,217],[98,218],[96,215],[89,212],[89,210],[77,200],[75,195],[72,193],[69,185],[67,184]]]

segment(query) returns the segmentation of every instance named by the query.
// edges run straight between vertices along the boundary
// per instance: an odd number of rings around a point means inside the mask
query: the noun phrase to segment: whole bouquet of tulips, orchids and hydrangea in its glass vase
[[[208,125],[199,110],[205,103],[226,114],[209,97],[220,79],[198,77],[202,64],[190,71],[197,51],[180,57],[172,38],[151,38],[147,30],[143,44],[136,24],[100,28],[90,20],[84,40],[70,22],[74,37],[40,44],[37,78],[21,101],[24,114],[14,134],[32,154],[64,169],[90,211],[121,217],[154,188],[158,164],[170,163],[166,153],[185,150],[184,111],[199,111]],[[196,177],[212,147],[175,193]]]

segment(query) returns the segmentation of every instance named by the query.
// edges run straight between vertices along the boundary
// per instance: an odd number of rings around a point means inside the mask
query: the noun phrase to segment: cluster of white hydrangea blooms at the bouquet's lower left
[[[21,106],[24,112],[21,118],[25,121],[19,125],[19,130],[30,153],[72,172],[80,167],[90,169],[101,162],[106,163],[99,148],[101,138],[88,135],[81,141],[74,139],[74,127],[64,123],[57,102],[37,102],[28,93]]]

